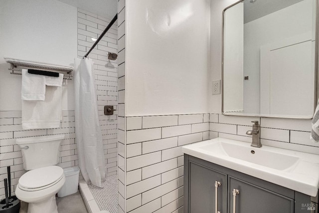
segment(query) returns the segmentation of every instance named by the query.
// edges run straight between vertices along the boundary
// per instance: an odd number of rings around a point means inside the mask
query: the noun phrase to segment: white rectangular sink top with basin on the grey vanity
[[[216,138],[182,147],[182,152],[315,197],[319,155]]]

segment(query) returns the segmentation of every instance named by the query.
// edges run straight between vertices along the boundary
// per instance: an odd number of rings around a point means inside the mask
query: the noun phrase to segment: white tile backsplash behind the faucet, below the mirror
[[[310,140],[312,120],[259,118],[210,114],[209,138],[229,138],[251,143],[246,135],[252,129],[251,121],[261,124],[261,143],[283,149],[319,154],[319,143]]]

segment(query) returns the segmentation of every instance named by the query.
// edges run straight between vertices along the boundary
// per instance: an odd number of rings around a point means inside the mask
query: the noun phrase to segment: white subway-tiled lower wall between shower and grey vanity
[[[126,117],[126,212],[183,211],[181,147],[209,138],[209,114]],[[120,195],[125,194],[119,182]]]

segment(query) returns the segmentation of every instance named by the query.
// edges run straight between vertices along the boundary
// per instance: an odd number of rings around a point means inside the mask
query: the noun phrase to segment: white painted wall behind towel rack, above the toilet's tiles
[[[60,65],[77,57],[77,8],[56,0],[1,0],[0,111],[21,110],[21,76],[3,56]],[[73,82],[64,81],[63,110],[74,109]]]

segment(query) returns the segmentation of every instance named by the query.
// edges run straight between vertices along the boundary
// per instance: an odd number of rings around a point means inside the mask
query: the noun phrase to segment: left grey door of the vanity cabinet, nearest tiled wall
[[[188,213],[215,213],[215,181],[220,182],[218,211],[226,213],[227,175],[194,162],[189,162],[188,172]]]

